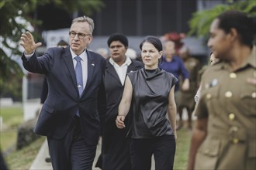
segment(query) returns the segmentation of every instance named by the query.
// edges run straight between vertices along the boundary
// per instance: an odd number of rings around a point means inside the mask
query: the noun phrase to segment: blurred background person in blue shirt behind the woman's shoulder
[[[164,42],[164,55],[163,61],[160,63],[160,68],[172,73],[178,80],[180,80],[180,76],[182,76],[182,90],[189,90],[189,71],[185,68],[185,65],[182,59],[176,55],[175,51],[175,42],[170,40]],[[180,104],[180,87],[179,82],[175,84],[175,102],[177,105],[177,109]],[[177,111],[178,112],[178,111]],[[179,117],[182,120],[182,117]],[[181,123],[181,122],[180,122]],[[180,129],[183,124],[178,124],[177,129]]]

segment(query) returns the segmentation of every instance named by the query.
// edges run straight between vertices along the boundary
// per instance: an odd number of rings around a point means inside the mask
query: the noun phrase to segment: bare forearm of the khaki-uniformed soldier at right
[[[188,162],[187,170],[194,169],[196,152],[199,146],[202,144],[202,141],[205,140],[207,135],[207,122],[208,122],[207,117],[198,119],[195,122],[195,128],[193,130],[191,143],[190,143],[189,162]]]

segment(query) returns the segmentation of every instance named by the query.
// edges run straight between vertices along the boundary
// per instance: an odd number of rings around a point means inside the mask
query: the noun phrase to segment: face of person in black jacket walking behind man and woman
[[[126,47],[123,45],[122,42],[112,41],[109,45],[109,53],[111,58],[116,63],[119,63],[126,59]]]

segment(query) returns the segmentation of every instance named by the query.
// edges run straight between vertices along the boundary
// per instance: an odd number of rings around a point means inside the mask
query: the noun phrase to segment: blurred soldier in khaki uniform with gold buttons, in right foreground
[[[254,169],[256,165],[255,25],[230,10],[214,19],[208,46],[218,63],[202,75],[188,170]]]

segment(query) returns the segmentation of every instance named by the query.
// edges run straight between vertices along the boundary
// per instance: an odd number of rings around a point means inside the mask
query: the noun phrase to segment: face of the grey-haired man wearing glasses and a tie
[[[75,54],[80,55],[87,48],[88,44],[92,42],[92,36],[89,36],[91,35],[89,24],[87,22],[74,22],[70,32],[76,34],[74,37],[69,36],[71,49]],[[78,34],[86,36],[79,38]]]

